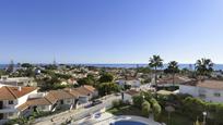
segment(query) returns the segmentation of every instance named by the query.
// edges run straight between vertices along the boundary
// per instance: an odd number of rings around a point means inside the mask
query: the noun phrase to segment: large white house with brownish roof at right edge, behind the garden
[[[179,85],[180,93],[188,93],[209,102],[223,102],[222,80],[193,80]]]

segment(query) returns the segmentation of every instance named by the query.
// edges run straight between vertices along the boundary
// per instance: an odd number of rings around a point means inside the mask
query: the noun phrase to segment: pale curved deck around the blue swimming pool
[[[80,120],[72,125],[109,125],[110,123],[115,123],[117,121],[134,121],[134,122],[141,122],[146,125],[161,125],[157,122],[154,122],[152,118],[145,118],[141,116],[132,116],[132,115],[119,115],[115,116],[110,113],[102,113],[99,117],[95,118],[95,116],[86,117],[83,120]]]

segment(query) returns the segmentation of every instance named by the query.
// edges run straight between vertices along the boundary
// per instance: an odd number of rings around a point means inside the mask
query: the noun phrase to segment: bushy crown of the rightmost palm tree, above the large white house
[[[213,63],[210,59],[201,59],[196,62],[196,73],[201,76],[210,76],[213,72]]]

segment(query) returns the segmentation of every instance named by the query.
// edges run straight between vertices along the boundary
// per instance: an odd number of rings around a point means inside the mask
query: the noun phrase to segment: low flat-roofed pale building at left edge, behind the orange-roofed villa
[[[1,76],[0,86],[37,86],[34,78]]]

